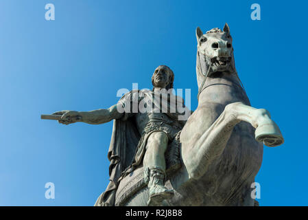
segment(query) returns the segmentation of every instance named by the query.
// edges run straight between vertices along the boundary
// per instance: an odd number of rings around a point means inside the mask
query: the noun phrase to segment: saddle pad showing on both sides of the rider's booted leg
[[[165,152],[166,179],[170,179],[176,170],[182,166],[180,157],[180,132],[168,145]],[[127,175],[119,182],[115,195],[115,206],[123,206],[136,192],[147,186],[144,181],[143,166],[136,168],[130,175]]]

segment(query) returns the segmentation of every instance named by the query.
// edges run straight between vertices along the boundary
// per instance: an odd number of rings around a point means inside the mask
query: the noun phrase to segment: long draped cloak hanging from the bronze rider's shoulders
[[[132,106],[134,102],[140,102],[142,98],[147,97],[148,100],[152,101],[152,96],[154,94],[153,91],[130,91],[128,94],[122,96],[119,100],[118,104],[122,106],[130,100],[130,110],[128,113],[125,112],[123,117],[120,119],[116,119],[113,121],[113,128],[112,128],[112,135],[110,140],[110,146],[108,150],[108,159],[110,161],[109,165],[109,175],[110,175],[110,182],[105,190],[95,202],[95,206],[115,206],[115,194],[117,191],[118,181],[121,179],[121,175],[123,175],[124,171],[131,172],[134,170],[134,167],[139,165],[142,162],[143,154],[145,153],[145,142],[141,143],[141,137],[143,138],[144,135],[141,135],[137,129],[136,121],[132,116]],[[140,96],[141,95],[141,96]],[[173,96],[173,95],[171,95]],[[178,96],[175,96],[179,98]],[[176,108],[176,103],[167,102],[167,113],[169,118],[172,120],[178,121],[178,115],[182,115],[183,118],[181,119],[180,124],[184,126],[187,118],[190,115],[190,110],[185,107],[184,102],[181,99],[182,109],[185,109],[185,112],[180,113]],[[156,99],[158,100],[158,99]],[[174,100],[175,101],[175,100]],[[163,109],[164,107],[159,103],[155,103],[154,105],[159,109]],[[158,100],[159,102],[159,100]],[[170,110],[172,109],[172,110]],[[187,111],[189,114],[187,115]],[[170,113],[172,112],[172,113]],[[143,146],[141,148],[140,145]],[[130,169],[128,169],[130,168]]]

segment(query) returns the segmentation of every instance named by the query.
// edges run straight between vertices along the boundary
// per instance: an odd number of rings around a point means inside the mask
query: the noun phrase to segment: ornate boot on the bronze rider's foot
[[[160,206],[164,199],[169,199],[174,195],[174,190],[165,188],[165,171],[158,166],[145,170],[145,182],[150,190],[148,206]]]

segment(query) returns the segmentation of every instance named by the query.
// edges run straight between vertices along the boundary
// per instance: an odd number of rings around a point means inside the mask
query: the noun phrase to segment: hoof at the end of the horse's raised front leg
[[[258,142],[263,142],[266,146],[279,146],[284,142],[279,127],[273,121],[258,126],[254,134],[256,140]]]

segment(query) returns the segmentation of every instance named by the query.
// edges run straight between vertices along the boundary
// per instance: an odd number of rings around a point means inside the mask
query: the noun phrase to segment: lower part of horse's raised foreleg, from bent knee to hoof
[[[249,122],[256,129],[254,135],[258,142],[266,146],[279,146],[283,144],[283,135],[279,126],[270,118],[270,113],[265,109],[255,109],[242,102],[228,104],[238,120]]]

